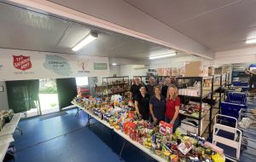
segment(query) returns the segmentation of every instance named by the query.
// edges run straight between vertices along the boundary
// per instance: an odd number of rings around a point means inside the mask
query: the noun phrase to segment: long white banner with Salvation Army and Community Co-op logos
[[[0,49],[0,80],[108,76],[108,57]]]

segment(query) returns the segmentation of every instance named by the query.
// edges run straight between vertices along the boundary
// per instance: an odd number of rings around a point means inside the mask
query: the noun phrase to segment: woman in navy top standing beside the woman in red
[[[154,87],[154,95],[149,100],[149,109],[155,123],[165,121],[166,98],[161,94],[160,87]]]

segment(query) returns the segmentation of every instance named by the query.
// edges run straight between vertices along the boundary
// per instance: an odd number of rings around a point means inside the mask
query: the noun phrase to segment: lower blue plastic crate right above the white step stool
[[[220,111],[221,114],[234,117],[236,119],[238,119],[240,109],[247,108],[246,105],[230,103],[230,102],[221,102],[220,107],[221,107],[221,111]]]

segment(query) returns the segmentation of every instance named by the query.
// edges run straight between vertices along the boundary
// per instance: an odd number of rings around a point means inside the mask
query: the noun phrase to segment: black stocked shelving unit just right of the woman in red
[[[209,132],[212,130],[212,119],[214,119],[214,116],[219,112],[219,101],[224,99],[224,93],[221,93],[221,91],[222,88],[226,86],[227,77],[223,76],[228,76],[228,74],[211,77],[177,78],[178,95],[180,96],[183,104],[188,101],[196,101],[201,105],[201,107],[203,101],[207,101],[207,103],[209,102],[210,104],[210,109],[204,113],[201,113],[201,109],[199,110],[198,117],[195,113],[193,115],[191,115],[192,113],[180,113],[184,118],[195,119],[198,121],[197,135],[201,136],[205,130],[207,130],[207,127],[209,128]],[[191,96],[191,94],[193,96]],[[213,100],[213,97],[218,98]],[[191,112],[191,110],[189,111]]]

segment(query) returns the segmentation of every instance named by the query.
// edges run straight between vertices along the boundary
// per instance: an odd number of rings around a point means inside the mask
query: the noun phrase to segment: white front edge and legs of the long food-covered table
[[[150,157],[152,157],[153,159],[156,159],[160,162],[166,162],[166,159],[163,159],[162,157],[160,157],[159,155],[155,154],[155,153],[152,153],[148,148],[145,148],[143,147],[142,144],[140,144],[139,142],[136,142],[136,141],[133,141],[131,140],[130,136],[127,136],[125,135],[125,133],[123,133],[121,130],[116,130],[116,129],[113,129],[113,126],[110,126],[110,124],[105,121],[105,120],[102,120],[100,119],[99,117],[97,117],[96,115],[94,115],[93,113],[90,113],[88,110],[86,110],[84,107],[80,107],[79,104],[73,102],[73,105],[75,105],[76,107],[79,107],[79,109],[83,110],[84,113],[87,113],[89,116],[90,116],[90,119],[91,118],[94,118],[96,119],[98,122],[106,125],[109,129],[113,130],[113,132],[115,132],[116,134],[118,134],[119,136],[123,137],[125,139],[125,142],[123,144],[123,147],[121,148],[120,150],[120,153],[119,153],[119,156],[121,157],[121,154],[123,152],[123,148],[125,147],[125,143],[126,142],[130,142],[131,144],[133,144],[135,147],[139,148],[140,150],[142,150],[144,153],[147,153]],[[87,123],[86,125],[89,125],[90,126],[90,119],[88,119],[88,122],[89,124]]]

